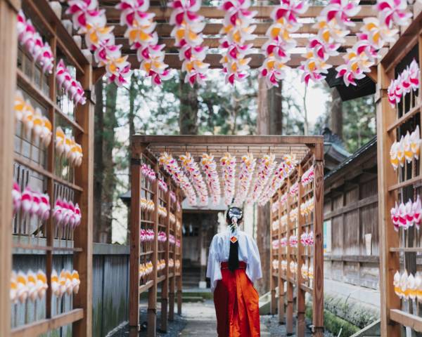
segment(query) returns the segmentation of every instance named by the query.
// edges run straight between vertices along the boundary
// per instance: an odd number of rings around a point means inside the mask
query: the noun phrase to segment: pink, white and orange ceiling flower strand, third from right
[[[272,25],[267,30],[268,41],[262,46],[265,60],[260,67],[260,77],[265,78],[267,87],[279,86],[279,81],[286,77],[289,67],[290,51],[295,48],[296,40],[291,34],[302,26],[298,15],[307,11],[306,1],[282,0],[281,5],[271,13]]]

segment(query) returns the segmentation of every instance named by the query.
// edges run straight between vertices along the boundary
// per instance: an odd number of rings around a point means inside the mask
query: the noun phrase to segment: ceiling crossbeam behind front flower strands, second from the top
[[[254,34],[256,35],[264,35],[267,32],[267,29],[271,25],[269,22],[258,22],[254,23],[256,25],[256,29]],[[313,28],[313,23],[304,23],[300,29],[298,29],[295,34],[316,34],[318,32],[318,29]],[[356,34],[359,32],[360,28],[362,27],[362,22],[356,22],[356,25],[354,27],[350,27],[350,34]],[[126,32],[127,27],[113,24],[114,29],[113,32],[115,34],[115,37],[123,37],[124,32]],[[155,32],[158,33],[159,37],[170,37],[170,33],[172,32],[173,25],[170,25],[169,23],[158,23],[157,27],[155,28]],[[222,29],[223,25],[222,23],[207,23],[203,29],[204,35],[216,35],[219,34],[219,31]]]

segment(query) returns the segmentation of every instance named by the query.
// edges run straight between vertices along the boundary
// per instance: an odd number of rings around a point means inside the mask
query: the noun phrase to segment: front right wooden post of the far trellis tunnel
[[[313,336],[324,336],[324,143],[314,149],[314,284],[312,289]]]

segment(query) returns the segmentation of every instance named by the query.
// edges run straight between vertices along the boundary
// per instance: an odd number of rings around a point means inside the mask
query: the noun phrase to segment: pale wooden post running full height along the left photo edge
[[[13,100],[16,90],[16,13],[20,1],[0,0],[0,336],[11,334]]]

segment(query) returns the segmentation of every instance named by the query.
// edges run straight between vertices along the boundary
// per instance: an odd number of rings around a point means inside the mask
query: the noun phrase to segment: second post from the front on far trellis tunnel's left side
[[[158,163],[154,166],[155,174],[158,176]],[[148,337],[157,335],[157,264],[158,264],[158,179],[153,183],[154,205],[154,242],[153,242],[153,286],[148,291]]]

